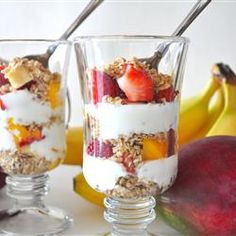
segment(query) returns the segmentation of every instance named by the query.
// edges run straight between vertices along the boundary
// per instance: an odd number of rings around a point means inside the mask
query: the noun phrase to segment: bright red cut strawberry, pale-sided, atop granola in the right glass
[[[153,100],[153,81],[143,69],[137,69],[128,64],[124,75],[117,81],[129,101],[151,102]]]

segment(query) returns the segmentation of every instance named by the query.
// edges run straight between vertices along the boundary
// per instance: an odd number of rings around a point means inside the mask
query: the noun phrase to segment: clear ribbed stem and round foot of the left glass
[[[63,210],[45,206],[48,179],[47,174],[7,177],[7,195],[13,206],[0,211],[0,235],[52,235],[71,225],[72,218]]]

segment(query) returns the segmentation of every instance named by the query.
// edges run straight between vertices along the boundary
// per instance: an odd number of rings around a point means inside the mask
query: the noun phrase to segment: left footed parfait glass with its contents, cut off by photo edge
[[[48,67],[24,58],[57,44]],[[0,168],[8,174],[10,207],[0,211],[6,235],[48,235],[72,219],[49,207],[48,172],[65,156],[65,94],[70,54],[68,41],[0,41]]]

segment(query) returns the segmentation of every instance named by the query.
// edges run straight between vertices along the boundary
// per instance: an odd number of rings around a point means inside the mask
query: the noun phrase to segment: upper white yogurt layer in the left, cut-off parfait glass
[[[50,104],[42,103],[28,90],[18,90],[1,96],[6,110],[0,111],[0,125],[5,126],[8,118],[13,117],[17,124],[45,123],[55,113],[63,111],[52,110]]]

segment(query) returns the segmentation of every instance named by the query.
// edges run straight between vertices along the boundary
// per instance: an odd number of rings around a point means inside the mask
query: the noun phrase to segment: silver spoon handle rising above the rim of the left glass
[[[76,30],[76,28],[103,2],[104,0],[91,0],[84,8],[81,14],[70,25],[70,27],[61,35],[60,40],[65,40]]]

